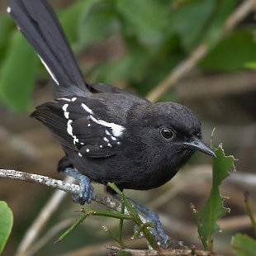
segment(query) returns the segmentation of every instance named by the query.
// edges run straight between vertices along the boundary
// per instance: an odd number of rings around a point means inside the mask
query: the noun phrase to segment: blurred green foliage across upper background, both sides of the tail
[[[124,43],[123,55],[86,70],[93,82],[115,84],[125,80],[145,95],[201,42],[212,48],[201,69],[230,72],[244,69],[244,63],[254,67],[253,27],[234,31],[221,40],[224,22],[238,2],[78,0],[58,13],[76,53],[113,35]],[[15,111],[26,111],[41,66],[31,49],[15,36],[14,29],[11,19],[2,15],[0,99]],[[164,100],[173,98],[172,92]]]

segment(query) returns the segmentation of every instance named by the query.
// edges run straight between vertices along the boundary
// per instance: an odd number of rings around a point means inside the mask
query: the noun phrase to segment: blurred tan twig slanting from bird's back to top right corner
[[[220,33],[220,39],[223,36],[232,31],[239,21],[242,21],[249,12],[251,12],[255,6],[255,0],[246,0],[242,2],[237,9],[230,14],[229,17],[225,20],[225,25],[223,26],[223,31]],[[178,64],[162,82],[160,82],[153,90],[149,92],[147,98],[151,102],[156,102],[160,97],[164,95],[170,88],[173,87],[181,78],[183,78],[188,72],[190,72],[199,61],[206,56],[206,54],[211,49],[210,45],[207,45],[205,42],[197,46],[195,50],[192,51],[192,54],[188,56],[187,59],[183,60],[182,63]]]

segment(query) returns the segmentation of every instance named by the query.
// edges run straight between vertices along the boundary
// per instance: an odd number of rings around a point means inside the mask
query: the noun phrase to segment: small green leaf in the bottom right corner
[[[256,239],[253,239],[248,235],[235,235],[231,244],[233,252],[236,256],[256,255]]]

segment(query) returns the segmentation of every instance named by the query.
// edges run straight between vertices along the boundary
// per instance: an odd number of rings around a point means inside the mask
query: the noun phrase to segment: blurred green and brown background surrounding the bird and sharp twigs
[[[221,187],[231,212],[221,220],[215,237],[216,252],[231,255],[230,241],[238,232],[252,232],[245,215],[243,193],[250,192],[256,211],[256,41],[255,13],[251,8],[227,33],[227,21],[244,2],[238,0],[52,0],[77,56],[84,78],[110,83],[147,96],[199,45],[207,54],[159,100],[181,102],[201,116],[204,140],[216,127],[215,144],[234,154],[237,172]],[[36,105],[51,99],[50,80],[34,50],[17,31],[0,2],[0,168],[63,178],[55,172],[62,156],[48,130],[29,117]],[[176,178],[149,192],[127,192],[159,212],[168,235],[196,244],[197,230],[189,202],[200,207],[209,193],[211,159],[196,154]],[[101,186],[97,186],[102,191]],[[17,251],[26,230],[50,197],[49,188],[0,180],[0,200],[14,211],[14,227],[3,254]],[[94,208],[99,206],[92,204]],[[44,236],[59,222],[78,217],[79,206],[67,197],[52,216]],[[70,221],[67,221],[70,220]],[[105,255],[114,244],[102,230],[117,228],[116,220],[91,218],[61,244],[60,231],[47,236],[35,255]],[[63,225],[64,228],[65,225]],[[131,234],[127,225],[127,239]],[[47,234],[46,234],[47,235]],[[36,239],[37,241],[40,239]],[[133,247],[143,247],[134,241]],[[68,253],[69,252],[69,253]]]

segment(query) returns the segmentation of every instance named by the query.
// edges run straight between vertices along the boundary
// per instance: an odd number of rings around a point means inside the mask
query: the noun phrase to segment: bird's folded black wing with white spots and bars
[[[36,108],[31,116],[48,126],[59,143],[81,157],[107,158],[118,152],[125,128],[97,116],[83,97],[60,98]],[[102,109],[102,106],[98,106]]]

